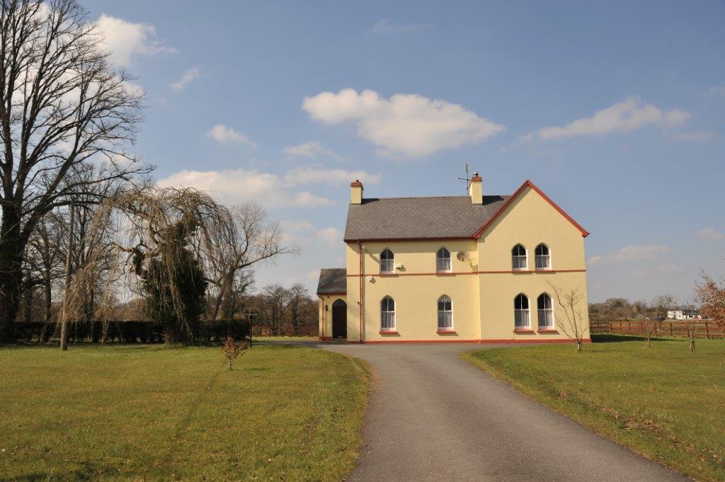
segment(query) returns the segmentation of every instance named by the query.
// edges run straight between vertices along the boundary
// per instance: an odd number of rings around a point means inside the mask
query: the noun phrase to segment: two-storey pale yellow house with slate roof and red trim
[[[573,314],[589,341],[589,233],[529,180],[510,196],[482,185],[474,173],[468,196],[364,199],[352,182],[347,266],[320,271],[320,339],[561,342]]]

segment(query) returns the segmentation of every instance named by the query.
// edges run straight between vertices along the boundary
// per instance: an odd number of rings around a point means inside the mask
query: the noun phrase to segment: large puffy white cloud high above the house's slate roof
[[[418,94],[395,94],[386,99],[374,91],[358,94],[346,88],[337,94],[321,92],[305,97],[302,109],[326,124],[354,124],[358,136],[380,147],[386,155],[427,156],[505,130],[458,104]]]

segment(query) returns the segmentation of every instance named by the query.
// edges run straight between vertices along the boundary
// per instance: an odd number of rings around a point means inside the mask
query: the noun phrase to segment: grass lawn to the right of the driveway
[[[465,360],[634,452],[725,481],[725,341],[593,336],[571,345],[468,352]],[[576,463],[576,461],[572,461]]]

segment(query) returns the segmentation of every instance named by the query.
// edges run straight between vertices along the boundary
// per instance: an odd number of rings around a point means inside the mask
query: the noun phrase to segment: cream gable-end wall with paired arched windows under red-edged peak
[[[550,249],[550,272],[534,270],[534,249],[542,242]],[[511,249],[517,243],[526,247],[528,272],[512,273]],[[526,187],[506,212],[484,230],[479,238],[478,257],[481,339],[566,338],[561,331],[536,333],[537,298],[543,292],[552,296],[555,329],[558,324],[559,309],[547,280],[565,289],[579,286],[583,295],[579,310],[587,324],[584,338],[589,338],[584,238],[579,229],[536,191]],[[501,273],[486,273],[491,271]],[[513,299],[519,293],[529,297],[529,320],[534,333],[513,333]]]

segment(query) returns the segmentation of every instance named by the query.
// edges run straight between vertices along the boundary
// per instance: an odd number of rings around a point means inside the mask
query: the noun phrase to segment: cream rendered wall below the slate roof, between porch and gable
[[[480,338],[479,269],[476,240],[421,240],[365,242],[363,266],[363,298],[365,312],[363,340],[427,340],[463,341]],[[445,246],[451,252],[452,274],[436,274],[436,252]],[[391,249],[395,263],[402,270],[395,275],[380,274],[380,253]],[[460,262],[456,253],[465,251],[471,259]],[[360,340],[360,256],[355,242],[347,244],[347,340]],[[370,281],[370,276],[373,281]],[[438,328],[437,302],[442,295],[450,296],[455,334],[436,333]],[[384,296],[395,301],[397,334],[381,334],[380,302]]]

